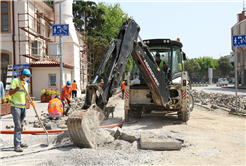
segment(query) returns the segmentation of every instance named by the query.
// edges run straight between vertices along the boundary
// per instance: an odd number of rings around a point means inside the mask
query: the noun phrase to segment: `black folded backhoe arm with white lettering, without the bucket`
[[[93,84],[88,85],[87,87],[87,89],[95,89],[95,91],[98,90],[100,92],[100,95],[95,102],[102,110],[105,109],[107,101],[119,87],[120,79],[130,55],[132,55],[145,82],[147,83],[155,105],[166,107],[170,102],[169,90],[166,88],[165,84],[166,73],[157,66],[148,50],[148,47],[144,45],[143,47],[140,47],[138,45],[137,39],[138,37],[140,38],[139,31],[140,27],[132,19],[129,19],[122,24],[118,38],[116,40],[112,40],[109,45],[105,58],[96,73]],[[95,82],[98,76],[104,72],[111,54],[111,63],[104,80],[103,88],[100,90],[100,87],[95,85]],[[93,90],[88,90],[88,93],[86,94],[84,109],[89,108],[92,104],[91,98],[95,92],[91,91]]]

